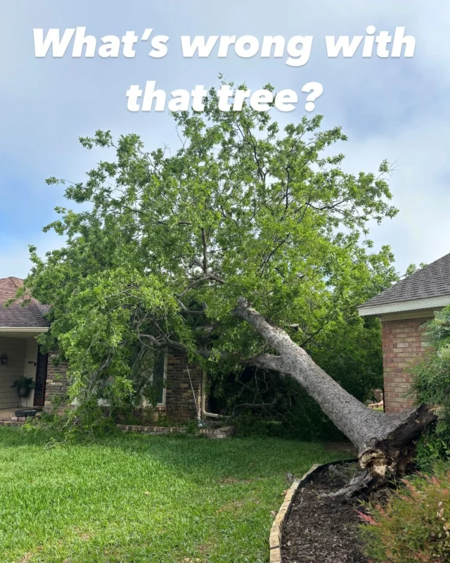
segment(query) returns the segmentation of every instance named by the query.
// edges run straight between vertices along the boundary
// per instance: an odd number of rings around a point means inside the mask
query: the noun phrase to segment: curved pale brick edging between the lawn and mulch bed
[[[356,457],[351,460],[338,460],[336,462],[328,462],[319,464],[314,464],[308,472],[302,476],[302,479],[295,479],[293,484],[288,489],[285,495],[283,504],[278,510],[278,514],[275,517],[274,524],[272,524],[270,536],[269,536],[269,548],[270,548],[270,563],[282,563],[281,561],[281,545],[283,543],[283,526],[286,519],[289,516],[290,510],[293,506],[293,502],[300,488],[304,487],[309,481],[311,481],[312,476],[319,472],[319,470],[328,467],[329,465],[340,465],[343,463],[352,463],[358,461]]]

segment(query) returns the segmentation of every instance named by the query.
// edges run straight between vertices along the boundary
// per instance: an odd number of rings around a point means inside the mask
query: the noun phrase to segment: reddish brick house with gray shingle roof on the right
[[[411,365],[425,353],[423,324],[450,305],[450,254],[417,270],[359,307],[361,317],[379,317],[383,339],[386,412],[413,405],[406,393]]]

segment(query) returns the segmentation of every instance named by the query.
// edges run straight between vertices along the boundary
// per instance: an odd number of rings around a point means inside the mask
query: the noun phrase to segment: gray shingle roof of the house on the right
[[[450,296],[450,254],[368,299],[360,308],[391,305],[415,299]]]

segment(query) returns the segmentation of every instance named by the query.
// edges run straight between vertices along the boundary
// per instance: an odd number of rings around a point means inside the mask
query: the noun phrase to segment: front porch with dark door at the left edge
[[[36,337],[45,329],[0,329],[0,419],[14,415],[18,409],[44,407],[47,356],[39,353]],[[14,381],[31,378],[34,388],[27,397],[18,396]],[[11,415],[12,412],[12,415]]]

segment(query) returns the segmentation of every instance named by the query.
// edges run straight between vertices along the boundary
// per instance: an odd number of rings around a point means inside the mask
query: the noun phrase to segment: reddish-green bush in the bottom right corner
[[[404,479],[387,503],[368,505],[366,555],[373,563],[450,561],[450,471]]]

